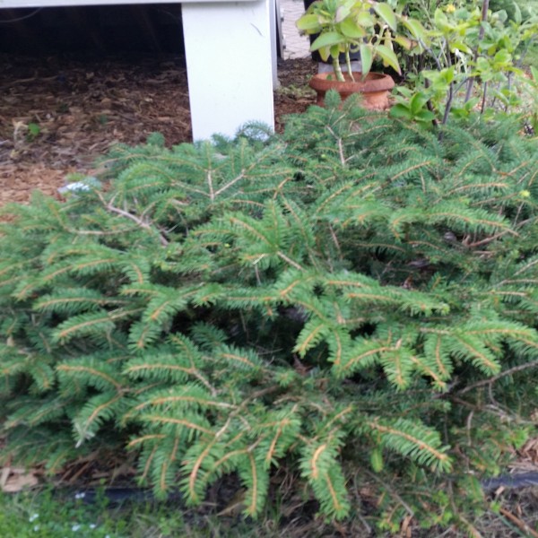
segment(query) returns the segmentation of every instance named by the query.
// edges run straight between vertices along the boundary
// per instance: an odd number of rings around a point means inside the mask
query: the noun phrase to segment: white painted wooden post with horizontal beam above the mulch
[[[2,8],[178,4],[178,0],[0,0]],[[274,0],[181,2],[193,138],[232,136],[245,122],[274,125]]]

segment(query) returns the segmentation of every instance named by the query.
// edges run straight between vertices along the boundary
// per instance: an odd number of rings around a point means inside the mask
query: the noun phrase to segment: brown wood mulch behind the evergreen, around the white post
[[[0,205],[33,190],[57,195],[65,176],[90,174],[114,143],[191,140],[187,69],[178,56],[15,56],[0,54]],[[279,61],[275,126],[314,102],[309,59]]]

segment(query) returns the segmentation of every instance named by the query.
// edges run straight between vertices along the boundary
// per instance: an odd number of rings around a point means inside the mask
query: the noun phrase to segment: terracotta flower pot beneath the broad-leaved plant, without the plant
[[[334,73],[319,73],[310,79],[310,87],[317,91],[318,105],[323,106],[326,91],[336,90],[343,100],[352,93],[361,93],[362,106],[369,110],[386,110],[389,107],[388,92],[395,87],[390,75],[370,72],[363,81],[361,73],[353,72],[355,82],[351,81],[349,74],[344,73],[344,77],[345,82],[338,82]]]

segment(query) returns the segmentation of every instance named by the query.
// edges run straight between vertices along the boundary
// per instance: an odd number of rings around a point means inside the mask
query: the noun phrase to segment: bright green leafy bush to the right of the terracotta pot
[[[478,109],[488,119],[517,111],[534,124],[535,89],[522,69],[538,35],[534,0],[399,4],[424,28],[412,47],[399,43],[409,87],[397,88],[393,116],[436,126]]]

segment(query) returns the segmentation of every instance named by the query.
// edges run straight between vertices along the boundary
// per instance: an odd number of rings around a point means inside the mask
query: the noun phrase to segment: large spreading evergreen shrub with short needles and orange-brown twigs
[[[338,518],[373,471],[389,528],[481,499],[535,404],[536,141],[339,104],[266,143],[121,147],[102,190],[9,209],[4,459],[126,448],[191,503],[237,473],[250,516],[278,465]]]

